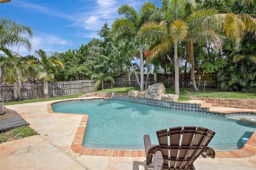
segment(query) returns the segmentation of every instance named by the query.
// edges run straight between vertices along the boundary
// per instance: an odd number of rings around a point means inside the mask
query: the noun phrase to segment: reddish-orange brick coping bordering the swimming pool
[[[109,98],[104,98],[109,99]],[[62,101],[71,100],[86,100],[86,99],[66,99]],[[58,103],[62,101],[55,101],[47,104],[47,109],[49,113],[57,113],[52,111],[51,105],[53,103]],[[201,106],[200,106],[201,107]],[[59,113],[68,114],[69,113]],[[222,113],[225,114],[225,113]],[[102,150],[102,149],[89,149],[82,146],[84,132],[86,130],[86,125],[88,121],[88,115],[82,115],[82,120],[74,136],[74,140],[71,144],[71,149],[73,152],[81,155],[89,156],[120,156],[120,157],[146,157],[146,152],[142,150]],[[247,158],[256,154],[256,131],[252,134],[250,139],[244,144],[244,146],[239,150],[234,151],[216,151],[215,158]],[[200,156],[202,157],[202,156]]]

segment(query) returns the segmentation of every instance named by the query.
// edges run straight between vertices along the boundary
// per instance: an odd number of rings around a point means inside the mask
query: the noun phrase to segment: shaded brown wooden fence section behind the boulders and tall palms
[[[144,74],[144,85],[146,84],[146,76],[147,75]],[[154,83],[164,83],[166,79],[170,79],[170,78],[174,79],[174,75],[172,74],[157,73],[156,77],[157,77],[157,82],[154,81],[154,74],[149,74],[148,85],[152,85]],[[200,80],[199,80],[199,77],[201,77]],[[124,86],[130,86],[130,85],[139,86],[135,75],[131,75],[132,84],[129,84],[128,75],[114,76],[113,78],[115,80],[114,86],[118,86],[118,87],[124,87]],[[138,78],[140,80],[139,74],[138,74]],[[209,73],[209,74],[195,73],[195,81],[196,81],[197,87],[204,86],[204,82],[205,82],[205,87],[216,88],[216,79],[213,73]],[[179,83],[180,83],[180,88],[192,87],[191,73],[181,73],[179,77]]]

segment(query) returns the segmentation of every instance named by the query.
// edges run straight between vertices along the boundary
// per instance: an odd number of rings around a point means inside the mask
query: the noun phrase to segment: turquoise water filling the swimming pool
[[[88,114],[83,146],[104,149],[144,149],[143,135],[158,144],[156,130],[201,126],[216,132],[209,146],[215,150],[242,148],[256,127],[224,116],[176,111],[116,100],[68,101],[52,104],[54,112]]]

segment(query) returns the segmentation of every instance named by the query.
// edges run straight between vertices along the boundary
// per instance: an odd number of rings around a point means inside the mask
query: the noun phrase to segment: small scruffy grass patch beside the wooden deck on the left
[[[0,132],[0,143],[22,139],[33,135],[38,135],[38,132],[30,128],[28,125],[16,127]]]

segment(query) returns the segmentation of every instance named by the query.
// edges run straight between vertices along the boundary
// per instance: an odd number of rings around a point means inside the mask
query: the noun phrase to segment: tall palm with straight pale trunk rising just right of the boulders
[[[139,40],[152,38],[154,48],[150,51],[151,57],[166,53],[174,45],[174,67],[175,67],[175,94],[180,95],[179,91],[179,62],[178,44],[186,38],[188,32],[187,24],[182,20],[186,4],[184,0],[163,0],[162,22],[149,22],[144,24],[138,31]]]

